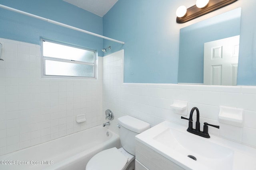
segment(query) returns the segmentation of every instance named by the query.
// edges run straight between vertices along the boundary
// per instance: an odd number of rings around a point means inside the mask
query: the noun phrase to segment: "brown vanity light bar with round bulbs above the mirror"
[[[186,10],[186,13],[181,15],[182,12],[178,12],[179,8],[176,11],[176,22],[177,23],[185,23],[187,21],[198,18],[204,14],[208,14],[214,10],[218,10],[224,6],[232,4],[237,0],[196,0],[196,5],[191,6]],[[180,11],[180,10],[179,10]],[[178,15],[180,14],[180,15]]]

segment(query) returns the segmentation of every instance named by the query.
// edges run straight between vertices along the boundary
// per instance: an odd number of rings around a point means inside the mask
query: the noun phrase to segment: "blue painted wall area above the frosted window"
[[[0,0],[0,4],[102,35],[102,17],[62,0]],[[0,8],[0,37],[40,44],[54,39],[96,49],[102,56],[102,38]]]

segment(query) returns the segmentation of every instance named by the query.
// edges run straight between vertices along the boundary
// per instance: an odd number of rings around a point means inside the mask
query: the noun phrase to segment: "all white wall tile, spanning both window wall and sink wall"
[[[123,83],[123,50],[99,57],[98,80],[44,79],[38,45],[0,42],[0,154],[101,125],[108,121],[106,109],[114,113],[106,128],[117,134],[117,118],[123,115],[152,126],[164,120],[188,126],[172,111],[174,100],[188,102],[188,114],[198,107],[201,126],[205,121],[220,125],[209,127],[210,135],[256,147],[256,86]],[[244,126],[219,123],[219,106],[244,109]],[[86,122],[76,123],[79,114],[86,114]]]

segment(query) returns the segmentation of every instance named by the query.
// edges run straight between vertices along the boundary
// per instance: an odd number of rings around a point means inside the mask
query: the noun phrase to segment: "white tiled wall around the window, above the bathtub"
[[[39,45],[0,42],[0,155],[102,123],[102,57],[98,80],[46,79]]]

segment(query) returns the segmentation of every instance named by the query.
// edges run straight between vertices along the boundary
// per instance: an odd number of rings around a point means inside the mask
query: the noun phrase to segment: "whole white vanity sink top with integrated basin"
[[[185,170],[254,170],[256,149],[210,135],[188,133],[187,127],[164,121],[136,140]]]

